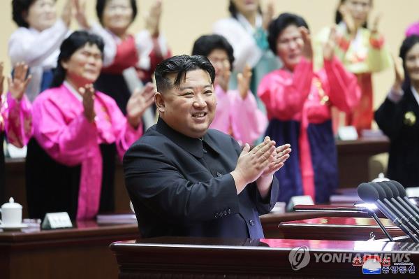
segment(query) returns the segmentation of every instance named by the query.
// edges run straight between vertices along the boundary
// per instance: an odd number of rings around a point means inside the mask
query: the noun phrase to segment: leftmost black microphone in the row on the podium
[[[419,238],[417,238],[411,230],[406,227],[403,220],[400,220],[399,217],[397,217],[390,209],[388,209],[387,206],[383,203],[383,201],[380,201],[380,195],[378,194],[378,191],[376,190],[376,187],[373,187],[372,185],[369,185],[367,183],[361,183],[358,186],[358,196],[360,196],[360,199],[362,201],[365,201],[366,203],[375,203],[378,209],[381,210],[381,212],[388,217],[393,223],[396,224],[397,227],[402,229],[404,233],[406,233],[408,236],[410,236],[413,241],[419,242]]]

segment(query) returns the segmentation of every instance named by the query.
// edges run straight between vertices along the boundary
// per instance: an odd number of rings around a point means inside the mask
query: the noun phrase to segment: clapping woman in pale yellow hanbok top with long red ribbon
[[[372,0],[341,0],[336,11],[337,44],[335,55],[351,73],[355,73],[361,89],[361,100],[351,111],[345,112],[345,124],[354,126],[358,134],[363,129],[371,129],[374,91],[372,74],[387,69],[391,56],[384,43],[383,35],[378,31],[380,17],[372,21],[367,28]],[[323,65],[322,48],[330,34],[331,27],[324,28],[316,36],[316,66]],[[340,124],[338,110],[334,112],[335,128]]]

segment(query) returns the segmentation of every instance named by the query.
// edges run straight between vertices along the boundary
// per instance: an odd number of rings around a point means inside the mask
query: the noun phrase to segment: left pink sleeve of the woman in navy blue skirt
[[[289,120],[302,110],[311,88],[313,63],[302,58],[292,76],[288,75],[291,74],[279,70],[260,82],[258,96],[265,103],[270,117]]]

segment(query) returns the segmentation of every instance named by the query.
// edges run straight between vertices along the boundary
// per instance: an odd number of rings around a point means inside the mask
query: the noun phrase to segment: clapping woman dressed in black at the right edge
[[[375,120],[390,138],[387,176],[405,187],[419,186],[419,36],[404,39],[395,61],[395,83]]]

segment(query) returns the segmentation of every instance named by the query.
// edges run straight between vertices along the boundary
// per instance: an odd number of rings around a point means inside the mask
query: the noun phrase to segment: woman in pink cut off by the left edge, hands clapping
[[[0,63],[0,202],[6,201],[4,138],[6,136],[8,143],[22,148],[31,137],[31,103],[24,94],[30,80],[27,71],[26,64],[17,63],[13,77],[8,79],[8,93],[3,95],[3,62]]]

